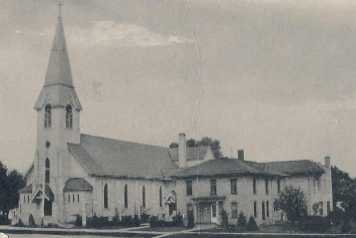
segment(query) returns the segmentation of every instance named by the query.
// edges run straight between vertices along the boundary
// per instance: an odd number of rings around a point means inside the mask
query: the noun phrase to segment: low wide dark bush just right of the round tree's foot
[[[306,216],[299,223],[303,231],[308,232],[325,232],[330,227],[330,219],[321,216]]]

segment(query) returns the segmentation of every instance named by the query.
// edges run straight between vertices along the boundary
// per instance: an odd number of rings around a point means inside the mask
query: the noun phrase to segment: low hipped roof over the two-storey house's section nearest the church
[[[237,176],[237,175],[267,175],[283,176],[281,173],[265,172],[237,159],[213,159],[185,169],[178,169],[172,177],[208,177],[208,176]]]

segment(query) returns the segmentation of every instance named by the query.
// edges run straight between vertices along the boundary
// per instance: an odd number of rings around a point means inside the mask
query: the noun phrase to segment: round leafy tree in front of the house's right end
[[[275,200],[274,205],[282,210],[292,223],[307,215],[305,196],[300,188],[286,187]]]

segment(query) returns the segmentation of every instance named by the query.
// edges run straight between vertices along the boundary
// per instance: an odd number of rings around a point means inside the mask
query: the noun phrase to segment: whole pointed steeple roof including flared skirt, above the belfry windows
[[[35,104],[36,110],[44,105],[56,107],[72,105],[74,109],[82,109],[79,98],[74,90],[72,70],[70,66],[62,19],[62,3],[58,4],[58,17],[52,49],[45,76],[44,86]]]

